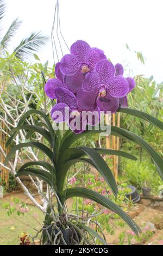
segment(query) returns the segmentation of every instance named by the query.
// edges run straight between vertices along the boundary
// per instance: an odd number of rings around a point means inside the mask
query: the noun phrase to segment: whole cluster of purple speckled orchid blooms
[[[127,94],[135,87],[135,81],[125,78],[123,71],[123,66],[114,66],[102,50],[91,48],[82,40],[74,42],[70,54],[55,65],[57,78],[45,85],[47,96],[57,99],[51,112],[53,120],[67,121],[72,129],[77,118],[82,127],[72,130],[79,133],[89,124],[89,118],[82,118],[82,112],[98,115],[101,111],[116,113],[119,107],[127,107]],[[65,114],[65,108],[70,114]],[[56,112],[61,112],[62,118],[57,118]],[[91,125],[96,123],[94,118]]]

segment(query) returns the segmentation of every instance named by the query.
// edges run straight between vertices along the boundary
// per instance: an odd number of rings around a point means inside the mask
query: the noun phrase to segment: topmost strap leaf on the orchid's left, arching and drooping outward
[[[39,114],[39,115],[41,115],[41,117],[46,121],[46,124],[48,126],[49,132],[51,133],[51,136],[53,136],[54,130],[53,130],[53,127],[52,127],[51,122],[49,121],[47,115],[43,111],[40,111],[40,110],[37,110],[37,109],[30,109],[29,111],[24,113],[17,125],[22,125],[23,122],[26,120],[26,118],[28,118],[29,115],[31,115],[31,114]],[[12,140],[15,138],[17,133],[18,133],[18,131],[12,133],[11,137],[8,139],[7,143],[5,144],[6,148],[11,144]]]

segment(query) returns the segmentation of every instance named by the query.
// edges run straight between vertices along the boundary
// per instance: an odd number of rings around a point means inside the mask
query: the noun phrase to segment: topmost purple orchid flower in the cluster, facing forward
[[[65,87],[77,93],[82,87],[85,75],[102,59],[106,59],[102,50],[91,48],[82,40],[74,42],[70,54],[66,54],[60,62],[60,72],[64,75]]]

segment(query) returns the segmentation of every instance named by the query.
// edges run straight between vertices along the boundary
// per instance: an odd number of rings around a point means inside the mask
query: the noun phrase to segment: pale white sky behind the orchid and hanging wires
[[[6,0],[7,16],[3,26],[8,28],[16,17],[23,20],[13,44],[32,31],[51,35],[56,0]],[[82,39],[92,47],[104,50],[114,64],[127,60],[136,74],[153,75],[163,81],[162,0],[60,0],[61,31],[68,46]],[[134,54],[142,51],[143,66]],[[66,50],[66,48],[65,48]],[[66,51],[64,53],[67,53]],[[42,62],[53,64],[49,42],[40,52]]]

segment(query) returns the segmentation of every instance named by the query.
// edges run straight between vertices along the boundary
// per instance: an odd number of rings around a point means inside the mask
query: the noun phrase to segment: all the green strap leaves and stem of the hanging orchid
[[[46,115],[44,115],[40,111],[28,111],[26,114],[23,115],[23,117],[20,120],[20,123],[16,127],[16,129],[12,130],[12,139],[16,136],[17,132],[19,130],[29,130],[28,125],[24,125],[23,122],[26,120],[28,115],[37,113],[43,117],[46,123],[46,129],[43,129],[39,126],[31,126],[32,131],[35,131],[37,133],[41,133],[46,139],[49,144],[49,148],[42,143],[39,142],[29,142],[29,143],[22,143],[14,146],[10,153],[7,156],[7,159],[5,160],[5,164],[8,163],[10,157],[15,153],[17,149],[21,149],[24,147],[36,147],[43,151],[48,157],[48,159],[52,162],[52,166],[54,166],[54,171],[49,172],[49,168],[47,168],[47,171],[41,170],[41,169],[36,169],[36,168],[27,168],[27,166],[23,166],[23,168],[19,169],[16,176],[21,176],[21,175],[35,175],[42,180],[46,181],[47,184],[49,184],[55,193],[58,194],[58,211],[59,214],[62,214],[62,208],[60,206],[61,204],[65,203],[65,200],[70,197],[84,197],[90,200],[93,200],[96,203],[99,203],[109,210],[115,212],[115,214],[120,215],[124,221],[127,222],[127,224],[133,229],[135,233],[137,233],[140,229],[137,227],[136,223],[134,223],[133,220],[112,200],[109,198],[106,198],[102,196],[100,193],[92,191],[88,188],[85,187],[76,187],[76,188],[66,188],[64,190],[64,184],[66,180],[66,173],[67,170],[71,167],[72,164],[76,162],[86,162],[90,163],[95,167],[98,172],[103,176],[104,180],[109,184],[112,192],[114,194],[117,194],[117,186],[116,183],[113,179],[111,170],[109,167],[106,165],[105,161],[102,159],[101,155],[103,151],[100,151],[98,149],[91,149],[88,147],[78,147],[78,148],[70,148],[71,145],[76,142],[79,138],[82,138],[84,136],[89,136],[91,133],[96,133],[100,131],[85,131],[83,133],[80,133],[79,135],[75,135],[71,131],[66,131],[64,135],[61,136],[60,131],[58,130],[57,132],[53,131],[51,124],[49,123],[48,118]],[[134,112],[135,113],[135,112]],[[131,113],[132,114],[132,111]],[[140,118],[144,118],[145,113],[142,113],[140,115]],[[150,117],[148,115],[147,121],[152,121],[154,124],[158,124],[158,121],[153,119],[153,117]],[[160,127],[161,123],[159,123]],[[27,127],[28,126],[28,127]],[[161,127],[160,127],[161,128]],[[148,144],[146,143],[141,137],[135,135],[134,133],[131,133],[129,131],[126,131],[124,129],[120,129],[118,127],[112,126],[111,129],[112,135],[116,136],[122,136],[123,138],[130,139],[132,142],[136,142],[142,147],[146,149],[146,151],[149,153],[149,155],[152,157],[156,167],[158,167],[158,172],[162,176],[162,164],[163,160],[161,157],[156,153],[156,151]],[[11,139],[9,139],[9,142],[7,144],[9,145],[11,142]],[[54,142],[54,143],[53,143]],[[111,152],[113,154],[113,152]],[[87,157],[82,157],[81,156],[87,156]],[[28,163],[28,166],[33,166],[33,165],[40,165],[42,162],[38,163],[33,163],[30,162]],[[50,168],[52,170],[52,168]],[[107,172],[106,172],[107,170]],[[53,175],[54,173],[54,175]],[[53,182],[52,182],[53,181]],[[121,197],[121,201],[124,199],[124,197]],[[60,203],[59,203],[60,200]]]

